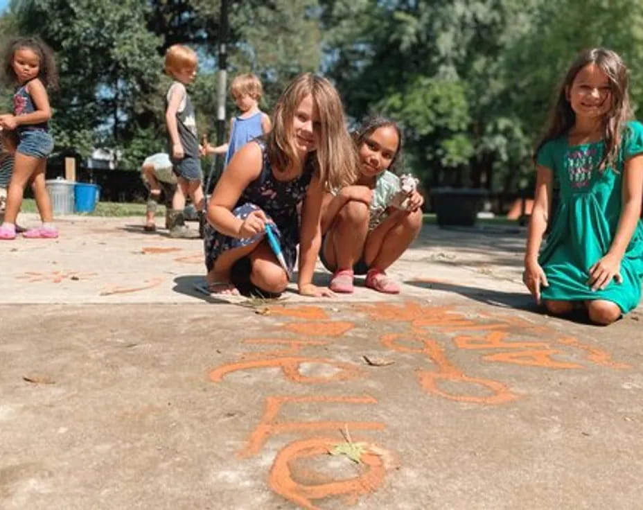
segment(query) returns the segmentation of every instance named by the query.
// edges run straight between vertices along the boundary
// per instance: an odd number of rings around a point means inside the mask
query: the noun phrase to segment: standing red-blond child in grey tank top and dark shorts
[[[197,211],[203,209],[201,148],[194,108],[185,88],[197,74],[196,53],[181,44],[170,46],[165,55],[165,70],[175,80],[166,95],[165,119],[169,153],[178,177],[172,211],[168,215],[170,237],[197,238],[199,234],[188,229],[183,216],[186,195],[190,196]]]

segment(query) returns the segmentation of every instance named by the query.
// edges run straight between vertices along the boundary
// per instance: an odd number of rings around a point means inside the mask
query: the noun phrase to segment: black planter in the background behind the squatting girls
[[[440,227],[472,227],[488,191],[482,188],[433,188],[431,203]]]

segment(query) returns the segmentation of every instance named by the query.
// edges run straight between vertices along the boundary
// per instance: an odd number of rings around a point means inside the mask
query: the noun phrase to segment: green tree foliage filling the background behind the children
[[[13,0],[0,43],[37,34],[56,52],[51,95],[57,150],[121,150],[121,166],[165,146],[162,55],[191,44],[190,89],[202,134],[214,140],[221,0]],[[323,71],[349,117],[382,112],[405,132],[405,164],[426,185],[515,190],[556,82],[587,46],[631,68],[643,101],[643,3],[637,0],[229,0],[229,76],[252,71],[270,107],[292,77]],[[10,90],[0,108],[10,107]],[[234,103],[227,94],[227,108]],[[230,115],[228,115],[230,116]],[[228,123],[228,122],[226,122]]]

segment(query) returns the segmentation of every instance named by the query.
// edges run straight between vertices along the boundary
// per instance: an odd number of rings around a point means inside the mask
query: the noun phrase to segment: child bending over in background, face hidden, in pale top
[[[157,152],[146,157],[141,165],[141,178],[146,188],[150,190],[143,230],[146,232],[156,231],[155,215],[157,204],[161,203],[161,196],[166,204],[167,228],[169,224],[168,213],[172,208],[172,200],[177,188],[177,177],[173,172],[170,157],[165,152]]]

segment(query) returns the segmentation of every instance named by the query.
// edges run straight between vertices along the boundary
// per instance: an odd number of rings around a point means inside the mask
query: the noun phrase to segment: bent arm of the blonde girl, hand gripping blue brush
[[[263,211],[252,212],[245,220],[232,213],[241,193],[261,173],[262,165],[261,148],[256,143],[247,143],[235,152],[227,170],[222,173],[208,206],[208,221],[222,234],[247,238],[264,231],[266,217]]]

